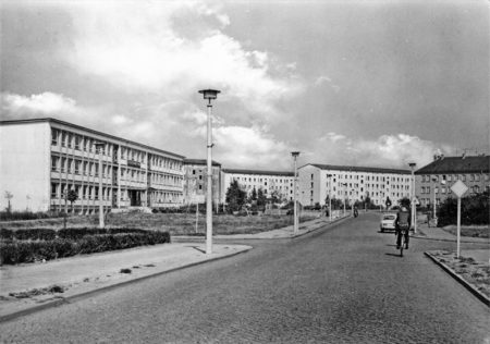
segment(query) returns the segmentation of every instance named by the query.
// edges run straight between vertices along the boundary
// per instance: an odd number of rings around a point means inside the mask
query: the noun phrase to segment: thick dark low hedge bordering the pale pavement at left
[[[170,233],[158,231],[85,235],[78,239],[57,237],[49,241],[5,241],[0,243],[0,263],[50,260],[164,243],[170,243]]]

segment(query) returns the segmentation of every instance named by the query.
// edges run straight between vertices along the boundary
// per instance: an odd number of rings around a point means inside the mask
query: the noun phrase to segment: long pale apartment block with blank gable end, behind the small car
[[[303,206],[326,205],[328,195],[348,204],[367,196],[375,205],[392,205],[411,195],[408,170],[308,163],[298,169],[298,200]]]

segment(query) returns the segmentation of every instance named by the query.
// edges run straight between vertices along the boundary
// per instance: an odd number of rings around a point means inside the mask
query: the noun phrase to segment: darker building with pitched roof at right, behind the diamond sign
[[[489,191],[490,156],[436,157],[436,160],[415,171],[415,196],[420,206],[439,205],[455,197],[451,186],[462,181],[469,187],[465,195]]]

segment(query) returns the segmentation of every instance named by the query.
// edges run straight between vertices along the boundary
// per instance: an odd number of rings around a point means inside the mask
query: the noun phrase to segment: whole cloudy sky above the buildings
[[[489,7],[9,1],[1,120],[56,118],[228,169],[489,153]]]

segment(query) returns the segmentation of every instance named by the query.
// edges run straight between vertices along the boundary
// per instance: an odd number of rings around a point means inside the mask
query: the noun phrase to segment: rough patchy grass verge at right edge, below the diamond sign
[[[455,253],[446,250],[430,251],[430,255],[490,298],[490,267],[487,262],[475,261],[471,257],[457,258]]]

